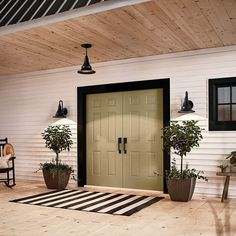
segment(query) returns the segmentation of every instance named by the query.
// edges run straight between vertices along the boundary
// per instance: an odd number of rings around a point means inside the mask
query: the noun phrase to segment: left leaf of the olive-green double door
[[[117,137],[122,136],[122,96],[106,93],[87,96],[87,182],[122,186],[122,155]]]

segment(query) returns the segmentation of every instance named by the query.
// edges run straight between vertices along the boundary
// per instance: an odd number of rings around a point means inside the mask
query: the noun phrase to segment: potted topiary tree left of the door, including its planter
[[[72,133],[67,125],[48,126],[42,132],[45,146],[56,154],[52,162],[40,163],[40,170],[43,171],[44,181],[49,189],[64,189],[73,172],[71,166],[64,164],[59,159],[59,153],[63,150],[70,150],[73,141]]]

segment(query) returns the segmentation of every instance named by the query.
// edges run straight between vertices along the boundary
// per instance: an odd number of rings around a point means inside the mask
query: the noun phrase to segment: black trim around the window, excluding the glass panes
[[[236,77],[209,79],[209,131],[234,131],[236,121],[218,121],[217,113],[217,88],[225,86],[236,86]],[[232,96],[232,95],[231,95]],[[232,104],[232,103],[230,103]]]

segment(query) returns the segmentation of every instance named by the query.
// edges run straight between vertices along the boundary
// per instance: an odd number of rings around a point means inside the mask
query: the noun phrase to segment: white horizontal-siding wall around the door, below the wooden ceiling
[[[207,49],[185,53],[146,58],[98,63],[93,65],[94,75],[80,75],[78,67],[62,68],[24,75],[0,78],[0,137],[7,136],[16,153],[18,179],[41,179],[34,173],[38,163],[50,160],[54,154],[44,148],[40,133],[55,120],[58,101],[62,99],[69,110],[68,118],[76,121],[77,87],[170,78],[171,117],[189,92],[198,115],[208,116],[209,78],[236,76],[236,47]],[[220,195],[223,179],[216,177],[217,165],[227,153],[236,148],[236,132],[208,132],[206,128],[199,148],[188,156],[190,166],[202,169],[209,182],[198,181],[195,193]],[[71,152],[62,154],[62,159],[76,168],[76,126],[72,125],[74,145]],[[236,181],[231,180],[229,196],[236,197]]]

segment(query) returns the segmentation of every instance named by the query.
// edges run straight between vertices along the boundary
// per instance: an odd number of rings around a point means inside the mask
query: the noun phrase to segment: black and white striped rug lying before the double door
[[[15,199],[11,202],[130,216],[162,198],[65,189]]]

